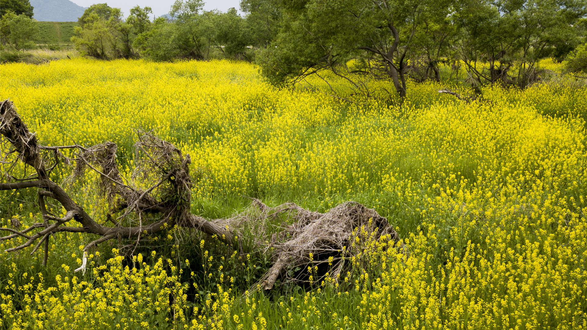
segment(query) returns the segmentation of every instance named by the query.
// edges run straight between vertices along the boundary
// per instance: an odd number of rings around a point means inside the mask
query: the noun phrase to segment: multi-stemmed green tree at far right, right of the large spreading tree
[[[585,0],[459,0],[457,5],[453,19],[460,36],[454,48],[474,82],[520,87],[534,81],[539,59],[563,58],[579,44],[577,22],[587,13]]]

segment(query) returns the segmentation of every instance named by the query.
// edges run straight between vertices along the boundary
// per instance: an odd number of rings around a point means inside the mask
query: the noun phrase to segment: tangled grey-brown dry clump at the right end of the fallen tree
[[[354,201],[340,204],[327,213],[308,211],[292,203],[275,208],[266,207],[258,200],[254,200],[254,204],[262,210],[260,218],[264,220],[280,213],[288,213],[294,220],[284,231],[272,237],[275,262],[259,283],[265,290],[273,288],[280,276],[289,275],[286,268],[296,266],[305,269],[328,263],[332,272],[327,268],[315,281],[320,282],[328,276],[336,282],[343,273],[346,258],[357,255],[365,246],[366,238],[376,241],[385,236],[393,245],[399,242],[399,235],[385,217]],[[367,233],[368,237],[362,237],[360,233]],[[280,236],[290,238],[280,241]],[[301,280],[299,275],[289,275],[289,279]]]

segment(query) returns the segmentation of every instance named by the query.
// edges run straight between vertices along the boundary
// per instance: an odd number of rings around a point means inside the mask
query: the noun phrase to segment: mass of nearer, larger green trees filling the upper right
[[[440,80],[440,63],[463,63],[474,85],[528,86],[539,59],[564,59],[587,31],[584,0],[308,0],[281,8],[279,32],[258,61],[273,82],[325,70],[356,80],[349,73],[362,72],[391,80],[400,96],[407,75]]]

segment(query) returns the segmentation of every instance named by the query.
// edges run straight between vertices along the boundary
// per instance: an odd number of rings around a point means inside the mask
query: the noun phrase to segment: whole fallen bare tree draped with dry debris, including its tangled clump
[[[215,236],[241,253],[244,252],[242,236],[246,233],[259,238],[254,243],[257,245],[255,248],[265,247],[267,252],[272,247],[270,253],[274,264],[258,284],[258,287],[269,290],[278,278],[287,274],[288,268],[325,262],[333,271],[330,274],[325,272],[322,278],[330,276],[338,281],[343,268],[349,264],[345,264],[345,258],[360,251],[355,247],[359,231],[370,233],[375,240],[386,237],[393,245],[399,242],[399,236],[386,218],[355,202],[340,204],[322,214],[293,203],[272,208],[252,198],[247,212],[231,218],[206,220],[192,214],[190,156],[184,156],[173,144],[158,139],[151,132],[140,132],[139,141],[134,145],[136,168],[130,179],[120,174],[116,143],[42,146],[8,100],[0,105],[0,134],[3,136],[0,143],[3,169],[0,190],[38,188],[38,203],[43,218],[42,223],[34,223],[24,230],[0,228],[0,231],[10,233],[0,237],[0,240],[24,237],[26,243],[6,251],[22,250],[36,243],[31,254],[43,245],[43,265],[46,265],[48,242],[54,233],[65,231],[100,236],[83,249],[82,267],[76,271],[85,271],[90,248],[122,238],[136,238],[136,248],[141,235],[153,235],[177,225]],[[60,151],[64,149],[72,150],[72,157],[64,156]],[[82,180],[87,171],[99,178],[97,193],[106,197],[110,205],[109,213],[100,223],[87,214],[59,184],[50,180],[51,171],[62,162],[68,165],[75,163],[72,180]],[[26,176],[28,169],[32,169],[33,174]],[[22,177],[17,178],[16,174]],[[63,206],[65,215],[57,217],[50,214],[45,198],[52,198]],[[282,230],[279,233],[272,236],[268,245],[265,234],[269,224],[281,215],[285,215],[286,223],[280,227]],[[77,221],[81,227],[66,226],[65,223],[70,220]],[[27,234],[33,230],[38,231]],[[286,277],[299,280],[292,275]]]

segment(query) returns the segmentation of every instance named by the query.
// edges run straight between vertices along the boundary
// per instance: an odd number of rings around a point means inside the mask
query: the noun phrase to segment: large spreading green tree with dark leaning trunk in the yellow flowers
[[[431,12],[428,0],[286,1],[281,29],[260,53],[262,72],[283,83],[329,70],[369,93],[353,81],[353,73],[390,79],[406,96],[406,62],[414,36]],[[443,14],[441,12],[440,14]],[[346,63],[356,59],[357,66]]]

